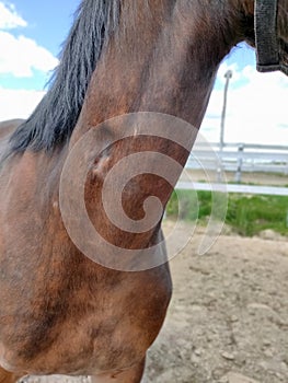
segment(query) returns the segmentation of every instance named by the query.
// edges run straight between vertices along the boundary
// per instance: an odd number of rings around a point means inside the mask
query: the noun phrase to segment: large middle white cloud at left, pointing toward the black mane
[[[32,77],[33,69],[47,72],[57,63],[58,59],[35,40],[0,31],[0,73]]]

